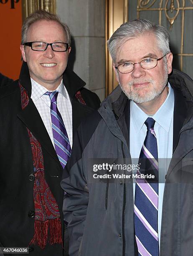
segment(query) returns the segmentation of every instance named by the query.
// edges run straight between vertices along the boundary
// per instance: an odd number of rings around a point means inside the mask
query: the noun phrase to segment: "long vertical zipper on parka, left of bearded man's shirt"
[[[123,142],[121,142],[121,149],[122,149],[124,164],[126,164],[126,160],[125,160],[126,157],[124,154]],[[126,170],[124,170],[124,174],[126,175]],[[122,210],[122,239],[123,239],[123,256],[125,256],[126,242],[125,242],[124,224],[125,224],[125,208],[126,208],[126,202],[127,202],[127,184],[125,179],[123,184],[124,184],[124,188],[123,188],[124,192],[123,192],[123,210]]]

